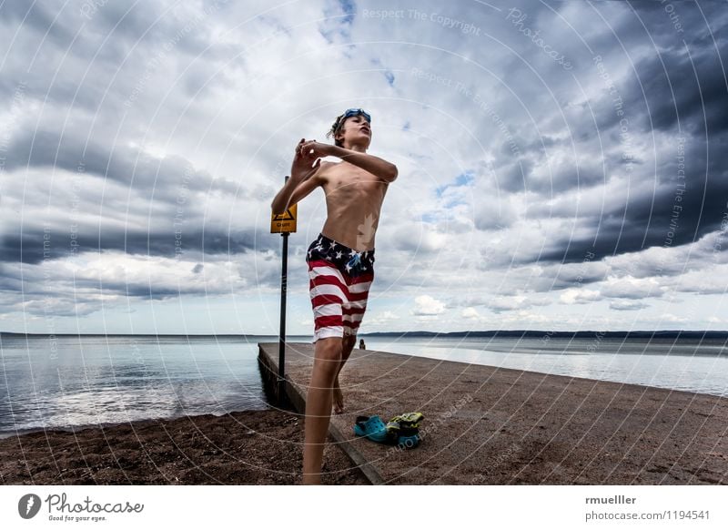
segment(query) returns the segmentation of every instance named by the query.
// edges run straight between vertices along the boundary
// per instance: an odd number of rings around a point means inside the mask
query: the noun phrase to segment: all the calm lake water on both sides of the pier
[[[290,341],[310,341],[290,337]],[[725,341],[365,338],[367,348],[728,395]],[[273,337],[3,338],[0,436],[266,409],[258,341]]]

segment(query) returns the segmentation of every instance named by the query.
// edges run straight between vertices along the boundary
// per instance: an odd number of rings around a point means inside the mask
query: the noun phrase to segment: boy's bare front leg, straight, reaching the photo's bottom
[[[303,484],[321,484],[321,463],[331,420],[332,389],[339,373],[341,356],[341,338],[329,337],[316,341],[313,371],[306,397]]]

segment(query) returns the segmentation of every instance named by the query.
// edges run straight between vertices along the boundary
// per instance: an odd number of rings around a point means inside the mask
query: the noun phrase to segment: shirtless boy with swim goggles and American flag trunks
[[[339,116],[329,134],[336,145],[301,139],[290,178],[271,204],[282,213],[316,188],[326,194],[327,219],[306,261],[314,312],[315,358],[306,399],[303,484],[320,484],[331,407],[342,413],[339,372],[357,340],[374,280],[374,235],[397,167],[367,154],[371,117],[360,108]],[[338,163],[320,158],[336,157]]]

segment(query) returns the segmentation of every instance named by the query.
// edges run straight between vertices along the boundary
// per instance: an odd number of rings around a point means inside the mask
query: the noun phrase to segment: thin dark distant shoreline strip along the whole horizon
[[[553,339],[591,339],[594,336],[604,339],[726,339],[728,331],[531,331],[531,330],[506,330],[506,331],[374,331],[371,333],[359,333],[359,337],[399,337],[399,338],[424,338],[424,339],[465,339],[465,338],[519,338],[519,339],[542,339],[550,337]],[[288,337],[308,337],[309,335],[288,334]],[[44,338],[44,337],[124,337],[124,338],[157,338],[157,339],[257,339],[259,337],[278,337],[278,335],[266,334],[187,334],[187,333],[15,333],[0,331],[0,339],[3,338]]]

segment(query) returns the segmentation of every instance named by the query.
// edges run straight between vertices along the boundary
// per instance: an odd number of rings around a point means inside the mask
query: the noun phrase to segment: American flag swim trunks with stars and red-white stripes
[[[374,249],[357,252],[319,235],[308,247],[314,342],[356,335],[374,280]]]

